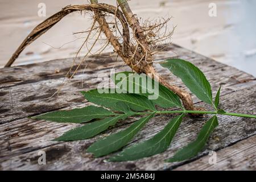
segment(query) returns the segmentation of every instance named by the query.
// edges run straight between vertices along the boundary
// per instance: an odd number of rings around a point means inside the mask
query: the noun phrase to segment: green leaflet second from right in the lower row
[[[166,151],[170,146],[172,138],[180,126],[184,114],[173,118],[162,131],[154,137],[125,148],[122,152],[112,156],[110,161],[137,160]]]

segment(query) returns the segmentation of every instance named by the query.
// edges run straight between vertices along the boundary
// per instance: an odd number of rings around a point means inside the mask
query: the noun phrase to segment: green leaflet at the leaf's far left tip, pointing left
[[[84,123],[96,118],[105,118],[114,115],[103,107],[87,106],[81,109],[53,111],[46,114],[36,115],[33,119],[45,119],[55,122]]]

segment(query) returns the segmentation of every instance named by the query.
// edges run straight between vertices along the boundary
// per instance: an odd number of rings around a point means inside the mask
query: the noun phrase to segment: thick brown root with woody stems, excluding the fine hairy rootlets
[[[160,84],[166,86],[168,89],[172,90],[172,92],[176,93],[180,97],[180,99],[183,101],[185,109],[196,110],[196,108],[193,106],[193,101],[189,93],[181,90],[175,85],[169,84],[166,80],[164,80],[163,77],[159,76],[158,73],[156,73],[153,66],[154,59],[152,58],[150,48],[148,47],[146,35],[144,35],[144,31],[139,25],[138,19],[135,18],[127,2],[122,0],[118,1],[122,11],[120,11],[118,7],[112,5],[97,3],[97,0],[92,0],[91,2],[93,3],[92,5],[66,6],[58,13],[52,15],[51,17],[44,20],[44,22],[36,26],[34,30],[32,30],[32,32],[27,36],[27,38],[24,39],[22,44],[20,44],[20,46],[14,52],[13,56],[10,58],[5,67],[10,67],[24,48],[34,42],[34,40],[39,38],[39,36],[47,32],[52,26],[54,26],[57,22],[64,18],[64,16],[74,11],[93,11],[95,14],[94,19],[97,20],[98,24],[100,24],[101,31],[104,32],[109,43],[111,43],[114,47],[115,52],[118,53],[118,55],[123,59],[123,61],[125,61],[127,65],[129,65],[131,69],[133,69],[133,71],[137,73],[145,73],[146,75],[154,78],[155,80],[158,80]],[[117,37],[114,36],[112,30],[110,30],[104,13],[113,14],[121,22],[123,28],[122,44],[119,42]],[[133,36],[137,41],[137,46],[133,46],[132,44],[130,44],[129,26],[133,31]],[[140,51],[138,51],[138,48],[140,48]]]

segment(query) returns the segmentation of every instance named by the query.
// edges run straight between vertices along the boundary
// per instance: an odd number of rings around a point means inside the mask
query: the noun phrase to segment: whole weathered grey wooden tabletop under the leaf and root
[[[168,57],[187,59],[202,69],[212,85],[213,95],[216,94],[218,86],[222,84],[220,106],[223,109],[256,114],[256,79],[253,76],[175,45],[159,53],[155,59],[162,61]],[[164,163],[164,159],[170,158],[180,147],[195,139],[209,115],[204,118],[187,116],[166,152],[134,162],[105,162],[104,159],[108,156],[94,159],[92,155],[85,152],[85,149],[98,138],[125,129],[136,118],[120,122],[119,127],[92,139],[77,142],[53,142],[52,139],[78,125],[35,121],[27,117],[57,109],[89,105],[90,103],[84,100],[79,91],[97,88],[98,75],[109,76],[110,69],[113,67],[116,68],[116,72],[130,71],[129,67],[123,65],[120,59],[116,60],[114,56],[90,57],[75,77],[65,82],[59,95],[51,97],[63,82],[64,75],[71,64],[72,59],[64,59],[0,69],[0,169],[255,169],[255,155],[253,154],[256,150],[254,136],[256,124],[255,119],[250,118],[221,116],[220,126],[214,130],[205,150],[192,160],[180,163]],[[170,82],[184,88],[181,81],[174,78],[167,69],[159,65],[157,69]],[[195,96],[193,100],[197,106],[210,109]],[[163,129],[173,116],[171,114],[157,115],[147,123],[144,130],[130,144],[152,137]],[[218,166],[209,167],[208,152],[211,150],[217,151],[221,160]],[[234,153],[233,150],[238,152]],[[46,152],[47,165],[38,164],[39,151]],[[244,155],[239,155],[239,151],[242,151]],[[234,162],[229,162],[230,160]]]

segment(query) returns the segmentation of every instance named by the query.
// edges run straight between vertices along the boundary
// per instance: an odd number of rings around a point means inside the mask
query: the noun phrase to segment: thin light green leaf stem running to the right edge
[[[193,114],[219,114],[219,115],[231,115],[236,117],[245,117],[245,118],[255,118],[256,115],[251,114],[240,114],[240,113],[217,113],[217,111],[200,111],[200,110],[164,110],[164,111],[151,111],[151,112],[141,112],[134,113],[135,115],[144,115],[144,114],[172,114],[172,113],[193,113]]]

